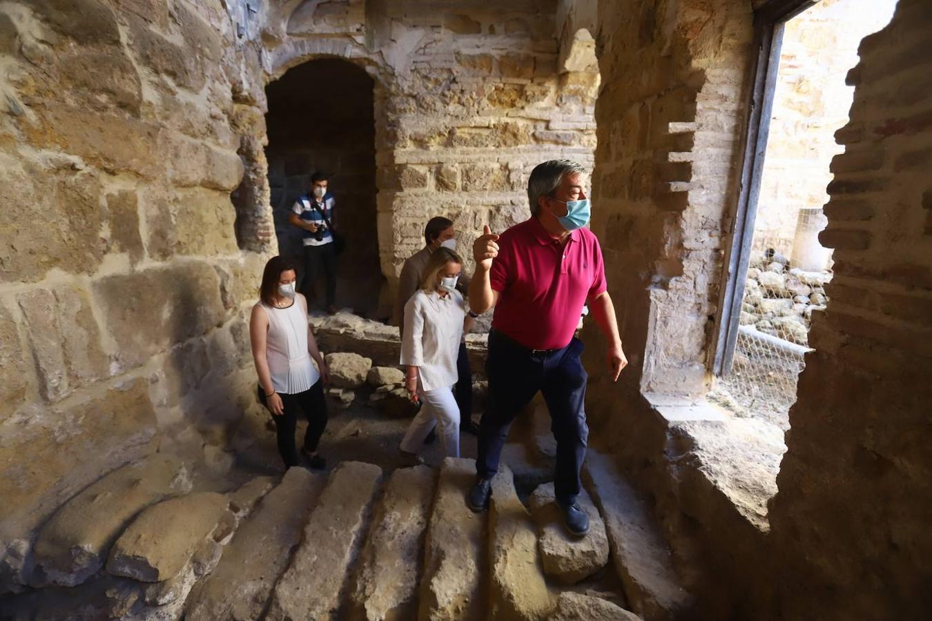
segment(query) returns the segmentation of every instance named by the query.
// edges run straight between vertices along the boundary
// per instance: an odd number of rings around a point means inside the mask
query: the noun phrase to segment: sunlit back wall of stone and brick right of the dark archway
[[[375,78],[383,304],[432,216],[451,218],[466,249],[483,224],[500,231],[528,217],[536,164],[592,164],[598,75],[558,70],[555,10],[530,0],[292,2],[261,18],[273,78],[328,56]]]

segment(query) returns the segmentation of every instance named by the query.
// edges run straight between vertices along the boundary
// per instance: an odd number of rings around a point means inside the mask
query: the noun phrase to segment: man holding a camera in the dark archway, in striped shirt
[[[336,244],[334,243],[334,196],[327,190],[327,175],[321,171],[310,177],[308,194],[298,196],[288,222],[302,229],[304,279],[301,292],[314,298],[314,283],[323,272],[326,282],[326,310],[336,313]]]

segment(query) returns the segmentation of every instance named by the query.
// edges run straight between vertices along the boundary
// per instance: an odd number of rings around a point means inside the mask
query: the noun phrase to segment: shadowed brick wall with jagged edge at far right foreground
[[[932,10],[900,0],[859,47],[836,132],[822,243],[834,249],[816,353],[771,504],[783,618],[920,619],[932,548]]]

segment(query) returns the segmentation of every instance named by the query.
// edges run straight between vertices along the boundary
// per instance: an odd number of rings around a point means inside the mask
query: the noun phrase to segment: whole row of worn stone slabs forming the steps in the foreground
[[[185,466],[156,455],[62,506],[35,541],[34,588],[0,600],[0,619],[689,616],[669,550],[609,458],[587,460],[595,503],[581,499],[592,518],[582,539],[563,533],[552,483],[528,510],[503,466],[489,510],[474,514],[473,477],[470,459],[390,473],[343,462],[189,493]],[[610,560],[624,595],[583,590]]]

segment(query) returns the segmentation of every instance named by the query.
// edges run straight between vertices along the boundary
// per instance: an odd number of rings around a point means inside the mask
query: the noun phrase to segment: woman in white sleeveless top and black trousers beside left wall
[[[259,374],[259,400],[272,412],[285,467],[298,465],[298,412],[304,412],[308,419],[301,452],[311,467],[325,467],[317,445],[327,425],[323,385],[329,384],[330,373],[308,325],[308,303],[295,293],[295,266],[284,257],[273,257],[266,263],[249,333]]]

